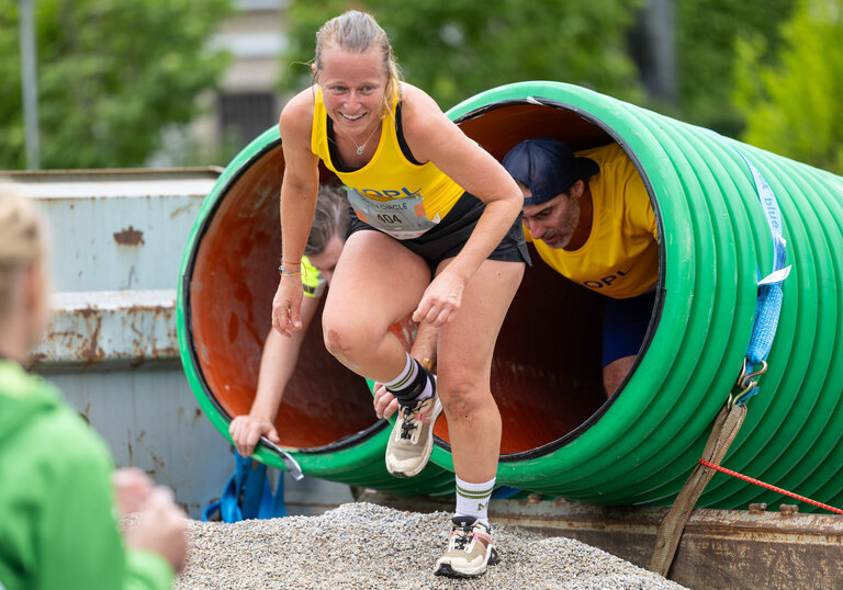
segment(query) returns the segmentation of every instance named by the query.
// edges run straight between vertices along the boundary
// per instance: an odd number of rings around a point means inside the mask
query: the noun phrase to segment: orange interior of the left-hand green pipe
[[[232,417],[251,407],[271,326],[283,169],[279,144],[229,184],[201,238],[191,275],[199,363],[213,396]],[[305,337],[276,419],[281,444],[290,449],[331,444],[376,422],[366,382],[325,351],[318,325]]]

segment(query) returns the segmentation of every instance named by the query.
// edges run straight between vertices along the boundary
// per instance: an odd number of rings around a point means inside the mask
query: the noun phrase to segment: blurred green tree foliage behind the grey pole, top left
[[[138,166],[196,115],[231,0],[36,0],[43,168]],[[0,0],[0,168],[24,166],[19,2]]]

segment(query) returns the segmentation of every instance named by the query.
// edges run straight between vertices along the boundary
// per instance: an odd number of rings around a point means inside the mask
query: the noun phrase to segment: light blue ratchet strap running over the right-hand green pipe
[[[752,377],[761,375],[767,370],[766,359],[769,350],[773,348],[773,340],[778,328],[778,317],[782,313],[782,282],[790,274],[790,265],[785,266],[787,262],[787,242],[782,236],[782,212],[778,208],[776,195],[758,169],[731,141],[730,145],[743,159],[752,173],[755,191],[758,195],[758,201],[761,201],[761,208],[764,212],[764,217],[769,226],[769,232],[773,236],[773,270],[767,276],[758,281],[755,321],[752,328],[752,336],[750,337],[750,345],[746,349],[746,360],[743,363],[743,371],[737,384],[741,392],[733,399],[735,405],[743,406],[746,404],[746,400],[758,393],[757,382],[753,381]],[[761,275],[761,272],[758,272],[758,275]],[[761,370],[755,370],[757,365],[762,366]],[[746,374],[748,366],[753,368],[753,372],[749,375]]]

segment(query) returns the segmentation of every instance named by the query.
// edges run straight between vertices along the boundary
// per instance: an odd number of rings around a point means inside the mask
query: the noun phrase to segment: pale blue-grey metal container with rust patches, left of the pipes
[[[234,469],[179,363],[179,257],[221,169],[10,171],[49,225],[53,322],[34,371],[108,443],[176,491],[193,518]],[[347,486],[285,478],[290,513],[352,499]],[[315,507],[318,498],[322,507]]]

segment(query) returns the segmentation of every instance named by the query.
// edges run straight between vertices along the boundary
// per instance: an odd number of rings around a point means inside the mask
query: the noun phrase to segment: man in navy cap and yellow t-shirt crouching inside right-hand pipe
[[[641,175],[617,144],[574,154],[552,137],[516,145],[504,168],[524,193],[524,226],[541,259],[609,297],[603,382],[611,395],[647,334],[659,280],[657,229]]]

